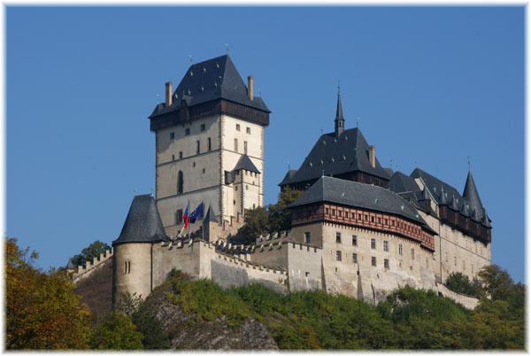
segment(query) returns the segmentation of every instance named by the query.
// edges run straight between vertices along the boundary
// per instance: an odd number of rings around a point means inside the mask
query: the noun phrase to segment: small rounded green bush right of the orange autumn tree
[[[131,317],[111,313],[96,327],[90,340],[90,348],[96,350],[139,350],[142,349],[142,334],[136,330]]]

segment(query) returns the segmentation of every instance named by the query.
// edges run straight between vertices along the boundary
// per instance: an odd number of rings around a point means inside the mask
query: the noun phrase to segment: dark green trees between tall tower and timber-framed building
[[[281,190],[276,204],[270,204],[267,209],[258,206],[249,210],[245,214],[245,225],[238,229],[235,238],[242,244],[254,244],[260,235],[289,230],[291,228],[289,205],[302,194],[302,190],[291,190],[287,187]]]

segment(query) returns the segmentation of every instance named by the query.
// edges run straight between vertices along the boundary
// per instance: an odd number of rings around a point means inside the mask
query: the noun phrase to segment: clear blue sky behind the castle
[[[272,110],[266,204],[320,135],[346,128],[383,166],[418,166],[492,219],[493,262],[525,278],[524,7],[7,7],[6,231],[64,266],[119,236],[155,184],[147,117],[195,62],[229,53]]]

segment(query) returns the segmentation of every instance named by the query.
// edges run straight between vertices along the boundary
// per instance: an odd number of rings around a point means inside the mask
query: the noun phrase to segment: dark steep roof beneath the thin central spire
[[[334,132],[321,135],[291,182],[318,179],[323,170],[325,175],[361,171],[389,180],[378,159],[375,167],[371,166],[368,152],[369,145],[359,128],[344,130],[337,138]]]

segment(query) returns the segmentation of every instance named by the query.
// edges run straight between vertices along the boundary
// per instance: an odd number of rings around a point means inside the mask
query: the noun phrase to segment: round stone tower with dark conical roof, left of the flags
[[[119,237],[112,242],[112,306],[122,293],[148,297],[153,289],[153,245],[170,241],[155,200],[135,196]]]

